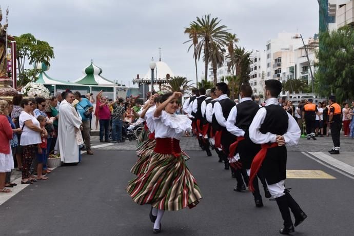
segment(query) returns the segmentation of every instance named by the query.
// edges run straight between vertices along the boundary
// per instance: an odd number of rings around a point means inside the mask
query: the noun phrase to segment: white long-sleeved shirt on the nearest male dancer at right
[[[265,101],[266,106],[269,105],[279,105],[278,99],[272,97]],[[288,113],[288,130],[283,134],[285,144],[287,145],[296,145],[299,142],[301,130],[298,123],[295,119]],[[267,110],[265,108],[260,108],[255,114],[253,121],[248,129],[249,138],[255,144],[266,144],[266,143],[276,143],[277,135],[273,133],[261,133],[260,128],[264,122],[264,119],[267,115]]]

